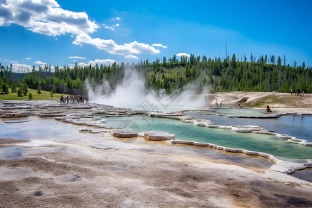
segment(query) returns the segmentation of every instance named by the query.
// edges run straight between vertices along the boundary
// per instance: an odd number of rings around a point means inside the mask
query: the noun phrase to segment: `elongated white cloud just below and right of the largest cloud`
[[[87,34],[79,34],[76,36],[76,39],[73,41],[73,44],[92,44],[96,46],[98,49],[105,50],[108,53],[118,54],[118,55],[127,55],[127,54],[158,54],[160,51],[155,49],[153,46],[148,44],[139,43],[139,42],[131,42],[125,44],[116,44],[114,40],[103,40],[100,38],[92,38]]]

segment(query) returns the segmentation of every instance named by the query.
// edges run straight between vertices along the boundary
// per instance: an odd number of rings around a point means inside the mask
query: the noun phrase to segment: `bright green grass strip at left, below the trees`
[[[49,91],[41,90],[41,94],[37,94],[37,89],[30,89],[28,88],[28,93],[26,96],[19,97],[17,96],[17,92],[12,93],[10,89],[9,94],[0,94],[0,100],[29,100],[28,94],[31,92],[33,95],[32,100],[51,100],[51,94]],[[60,99],[60,96],[67,95],[67,94],[53,94],[53,100],[54,99]]]

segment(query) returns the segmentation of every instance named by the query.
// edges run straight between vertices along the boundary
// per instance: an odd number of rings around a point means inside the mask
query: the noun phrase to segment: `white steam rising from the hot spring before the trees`
[[[196,83],[196,82],[194,82]],[[125,69],[121,83],[112,89],[107,80],[92,87],[88,81],[87,92],[92,103],[112,105],[114,107],[135,108],[138,110],[166,110],[169,106],[205,107],[205,95],[197,94],[197,86],[189,83],[183,91],[176,90],[170,95],[164,91],[155,92],[146,89],[145,77],[137,70]],[[202,93],[208,93],[207,90]]]

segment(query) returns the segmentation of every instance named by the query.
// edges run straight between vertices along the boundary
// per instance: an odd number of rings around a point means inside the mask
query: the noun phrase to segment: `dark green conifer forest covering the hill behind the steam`
[[[187,83],[195,83],[198,92],[203,87],[208,87],[209,92],[249,91],[249,92],[290,92],[291,89],[311,93],[311,67],[306,67],[305,62],[298,65],[296,61],[292,65],[286,64],[286,57],[275,55],[261,55],[256,58],[246,55],[239,60],[235,53],[232,58],[207,58],[191,54],[189,57],[182,55],[177,58],[163,57],[153,62],[141,60],[138,63],[116,63],[108,65],[95,64],[74,67],[59,67],[54,70],[51,66],[44,66],[30,73],[14,73],[8,67],[1,66],[0,93],[8,94],[24,90],[46,89],[60,92],[64,87],[85,91],[85,80],[92,87],[100,85],[103,79],[110,83],[114,89],[125,76],[126,69],[137,70],[146,80],[147,89],[164,89],[168,94],[175,89],[182,89]],[[63,87],[60,87],[63,86]],[[18,89],[17,89],[18,88]],[[64,92],[60,92],[64,93]]]

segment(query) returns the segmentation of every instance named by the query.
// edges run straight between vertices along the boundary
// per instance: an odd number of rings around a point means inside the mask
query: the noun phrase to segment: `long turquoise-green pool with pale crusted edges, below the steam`
[[[312,147],[293,144],[286,139],[272,135],[239,133],[232,130],[205,128],[193,123],[183,123],[173,119],[159,119],[148,116],[110,117],[107,126],[132,130],[162,130],[175,134],[175,139],[208,142],[229,148],[269,153],[279,158],[312,159]]]

